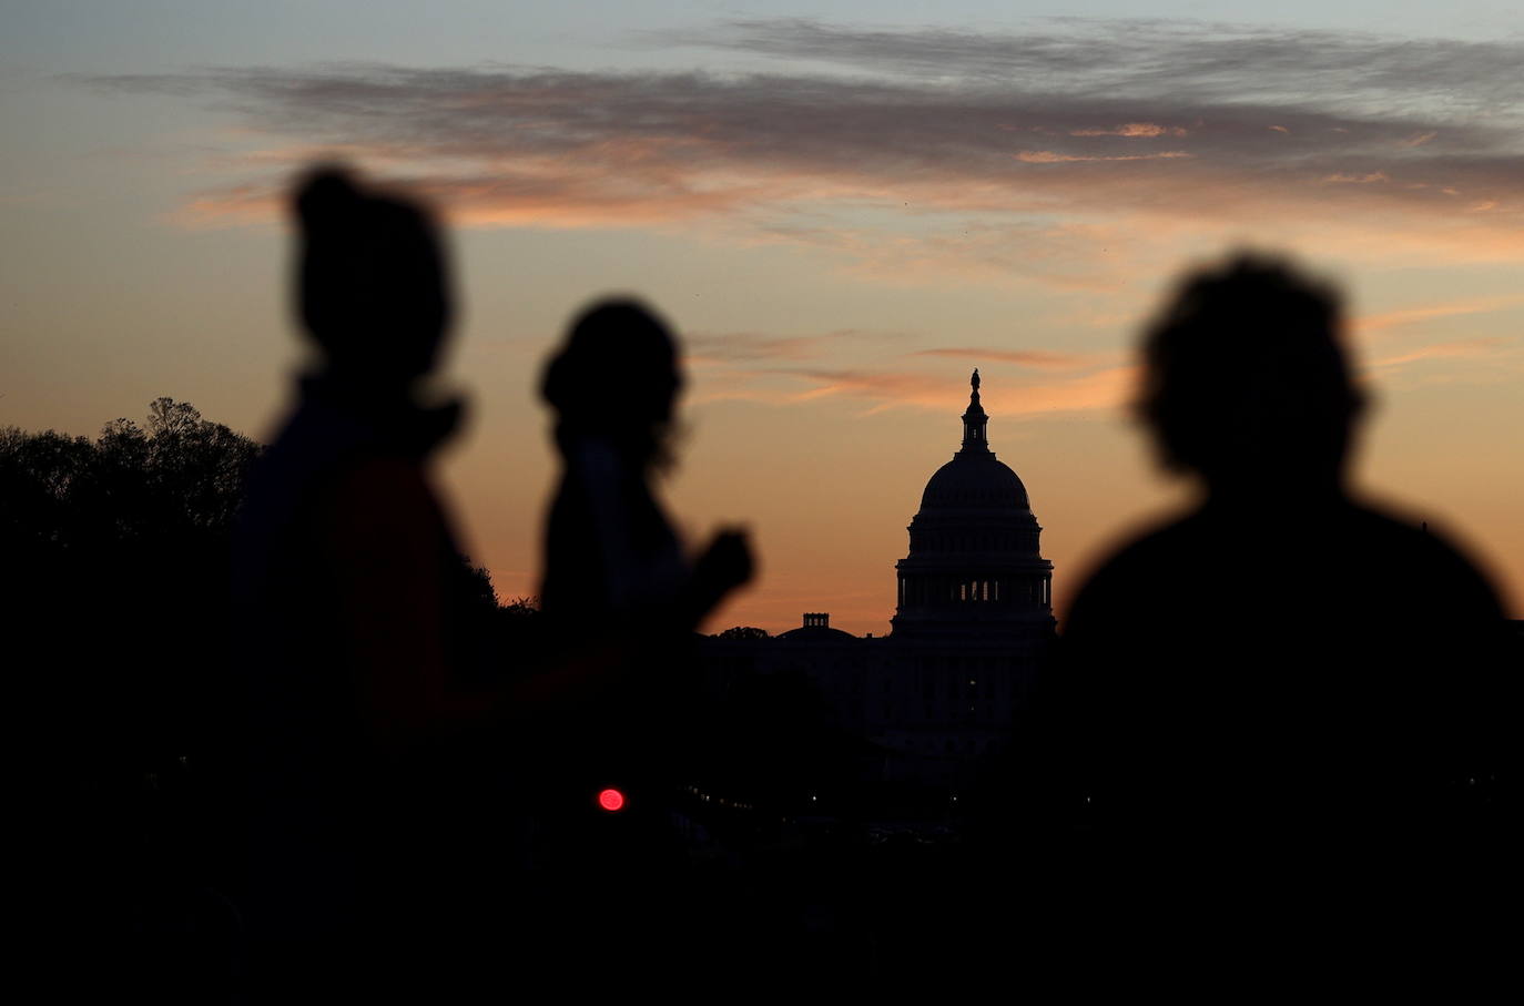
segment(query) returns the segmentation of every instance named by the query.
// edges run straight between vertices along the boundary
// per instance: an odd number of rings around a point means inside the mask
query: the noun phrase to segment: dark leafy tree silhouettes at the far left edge
[[[53,712],[102,771],[177,756],[206,726],[195,697],[219,680],[232,527],[259,451],[172,398],[94,441],[0,430],[5,611],[47,654],[34,672],[69,695]]]

